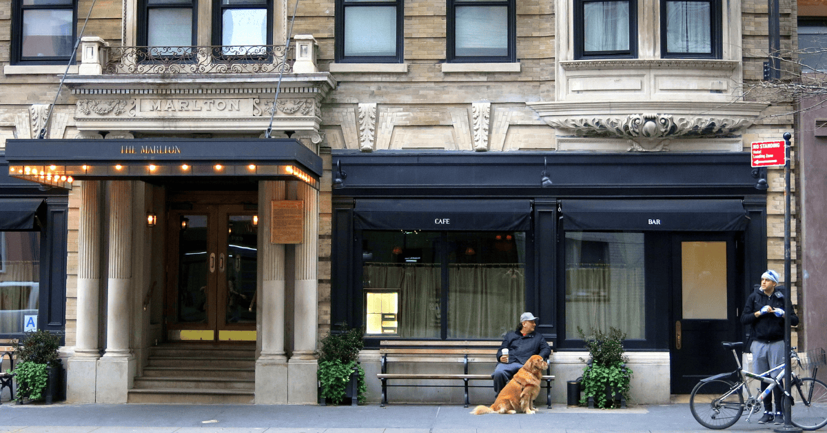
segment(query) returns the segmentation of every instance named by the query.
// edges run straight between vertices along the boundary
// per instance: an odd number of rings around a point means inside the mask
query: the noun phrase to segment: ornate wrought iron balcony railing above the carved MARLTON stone
[[[294,46],[107,46],[103,74],[255,74],[293,72]],[[286,62],[286,65],[285,65]]]

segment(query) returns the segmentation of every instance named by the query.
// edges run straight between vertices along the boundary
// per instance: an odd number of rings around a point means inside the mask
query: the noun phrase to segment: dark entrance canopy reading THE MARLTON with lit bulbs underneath
[[[74,179],[236,176],[318,189],[323,172],[322,158],[291,138],[7,140],[6,159],[9,176],[64,188]]]

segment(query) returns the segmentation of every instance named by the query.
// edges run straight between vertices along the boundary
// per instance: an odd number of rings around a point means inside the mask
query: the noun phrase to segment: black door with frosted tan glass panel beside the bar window
[[[672,239],[672,393],[688,394],[701,378],[734,370],[723,341],[739,341],[733,235],[676,234]]]

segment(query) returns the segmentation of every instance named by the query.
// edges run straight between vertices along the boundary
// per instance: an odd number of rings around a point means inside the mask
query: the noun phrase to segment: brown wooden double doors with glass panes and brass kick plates
[[[241,204],[170,211],[170,340],[256,340],[257,229]]]

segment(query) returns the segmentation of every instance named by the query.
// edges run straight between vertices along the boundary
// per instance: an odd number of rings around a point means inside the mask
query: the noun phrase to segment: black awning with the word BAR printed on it
[[[566,230],[726,232],[748,223],[741,200],[562,200]]]

